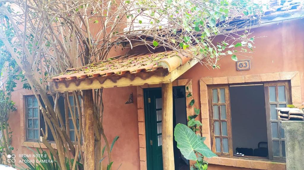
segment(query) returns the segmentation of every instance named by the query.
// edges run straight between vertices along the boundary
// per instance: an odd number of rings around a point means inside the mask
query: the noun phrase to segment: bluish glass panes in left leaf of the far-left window
[[[26,138],[38,140],[40,137],[40,110],[35,96],[26,97]]]

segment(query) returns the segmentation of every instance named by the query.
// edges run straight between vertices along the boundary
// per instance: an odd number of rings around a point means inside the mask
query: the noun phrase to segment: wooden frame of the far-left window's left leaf
[[[40,116],[40,109],[39,109],[39,106],[37,106],[37,107],[34,107],[34,106],[32,106],[32,107],[30,107],[30,108],[32,108],[32,110],[33,110],[33,114],[34,114],[34,108],[37,108],[38,109],[38,111],[39,111],[39,113],[38,113],[38,128],[34,128],[34,121],[33,121],[33,117],[32,118],[29,118],[28,117],[28,109],[29,109],[29,107],[28,107],[28,99],[29,98],[32,98],[32,101],[33,101],[33,99],[36,99],[36,97],[34,96],[34,95],[28,95],[28,96],[25,96],[25,118],[26,118],[26,141],[30,141],[30,142],[37,142],[37,141],[39,141],[39,139],[40,139],[40,136],[41,136],[41,132],[40,132],[40,123],[41,123],[41,116]],[[37,99],[36,99],[37,100]],[[33,103],[33,102],[32,102]],[[28,119],[32,119],[32,126],[33,126],[33,128],[29,128],[29,126],[28,126]],[[35,118],[36,119],[36,118]],[[33,130],[33,138],[34,138],[34,130],[38,130],[38,135],[39,135],[39,137],[38,137],[38,139],[29,139],[29,134],[28,134],[28,130],[29,129],[32,129]]]

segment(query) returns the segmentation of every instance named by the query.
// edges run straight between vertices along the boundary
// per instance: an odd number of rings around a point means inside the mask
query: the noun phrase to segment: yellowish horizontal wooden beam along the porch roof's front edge
[[[123,75],[111,75],[75,80],[51,81],[49,89],[56,91],[88,90],[107,87],[137,86],[145,83],[168,83],[171,82],[171,74],[167,69],[140,72],[136,74],[126,73]]]

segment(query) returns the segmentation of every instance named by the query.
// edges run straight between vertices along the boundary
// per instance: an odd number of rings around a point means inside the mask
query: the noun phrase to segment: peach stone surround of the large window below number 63
[[[291,101],[295,106],[302,105],[301,98],[301,84],[300,74],[296,72],[279,72],[269,74],[255,74],[255,75],[244,75],[244,76],[230,76],[230,77],[204,77],[199,80],[200,83],[200,101],[201,101],[201,112],[202,112],[202,136],[207,137],[205,143],[208,147],[211,147],[210,142],[210,125],[209,125],[209,105],[208,105],[208,85],[216,84],[234,84],[234,83],[261,83],[269,81],[280,81],[289,80],[291,83]],[[248,159],[237,159],[237,158],[224,158],[214,157],[207,159],[210,164],[226,165],[242,168],[254,168],[254,169],[268,169],[268,170],[285,170],[286,163],[248,160]]]

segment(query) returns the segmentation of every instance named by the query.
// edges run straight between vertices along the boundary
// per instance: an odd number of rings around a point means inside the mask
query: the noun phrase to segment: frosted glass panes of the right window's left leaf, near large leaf
[[[227,100],[229,100],[225,93],[227,90],[228,86],[223,88],[211,87],[209,90],[209,105],[213,122],[211,128],[214,135],[212,150],[218,155],[230,155],[229,145],[232,145],[228,137],[231,134],[229,132],[229,126],[231,125],[229,124],[230,116],[227,116],[227,111],[230,111],[230,109],[227,109]]]

